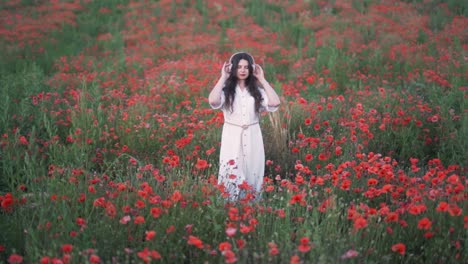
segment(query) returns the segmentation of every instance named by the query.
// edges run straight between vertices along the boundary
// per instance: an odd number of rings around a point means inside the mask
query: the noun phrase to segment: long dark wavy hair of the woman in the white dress
[[[245,85],[250,95],[252,95],[252,97],[255,99],[255,112],[259,113],[262,102],[262,95],[258,90],[258,79],[253,75],[253,65],[255,64],[255,61],[250,54],[245,52],[235,53],[231,57],[231,72],[229,73],[229,77],[226,80],[225,86],[223,88],[224,95],[226,96],[225,106],[232,112],[232,104],[236,95],[236,86],[238,81],[237,66],[239,65],[239,61],[242,59],[249,62],[249,76],[245,80]]]

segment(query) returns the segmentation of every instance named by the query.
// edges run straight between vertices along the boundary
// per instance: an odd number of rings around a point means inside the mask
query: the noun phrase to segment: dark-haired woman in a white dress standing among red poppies
[[[232,200],[244,190],[259,193],[265,170],[259,118],[261,112],[278,109],[278,95],[253,57],[238,52],[224,63],[208,100],[213,109],[222,109],[224,114],[218,183]]]

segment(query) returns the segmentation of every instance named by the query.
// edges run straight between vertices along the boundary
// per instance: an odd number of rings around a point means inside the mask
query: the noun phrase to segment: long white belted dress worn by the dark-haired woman
[[[278,107],[268,106],[265,90],[259,90],[263,97],[260,111],[276,111]],[[242,195],[241,190],[261,191],[265,172],[265,150],[259,115],[255,112],[255,99],[249,91],[236,87],[232,112],[223,107],[224,102],[223,92],[220,105],[211,105],[213,109],[222,109],[224,114],[218,184],[224,185],[231,199],[237,199]]]

